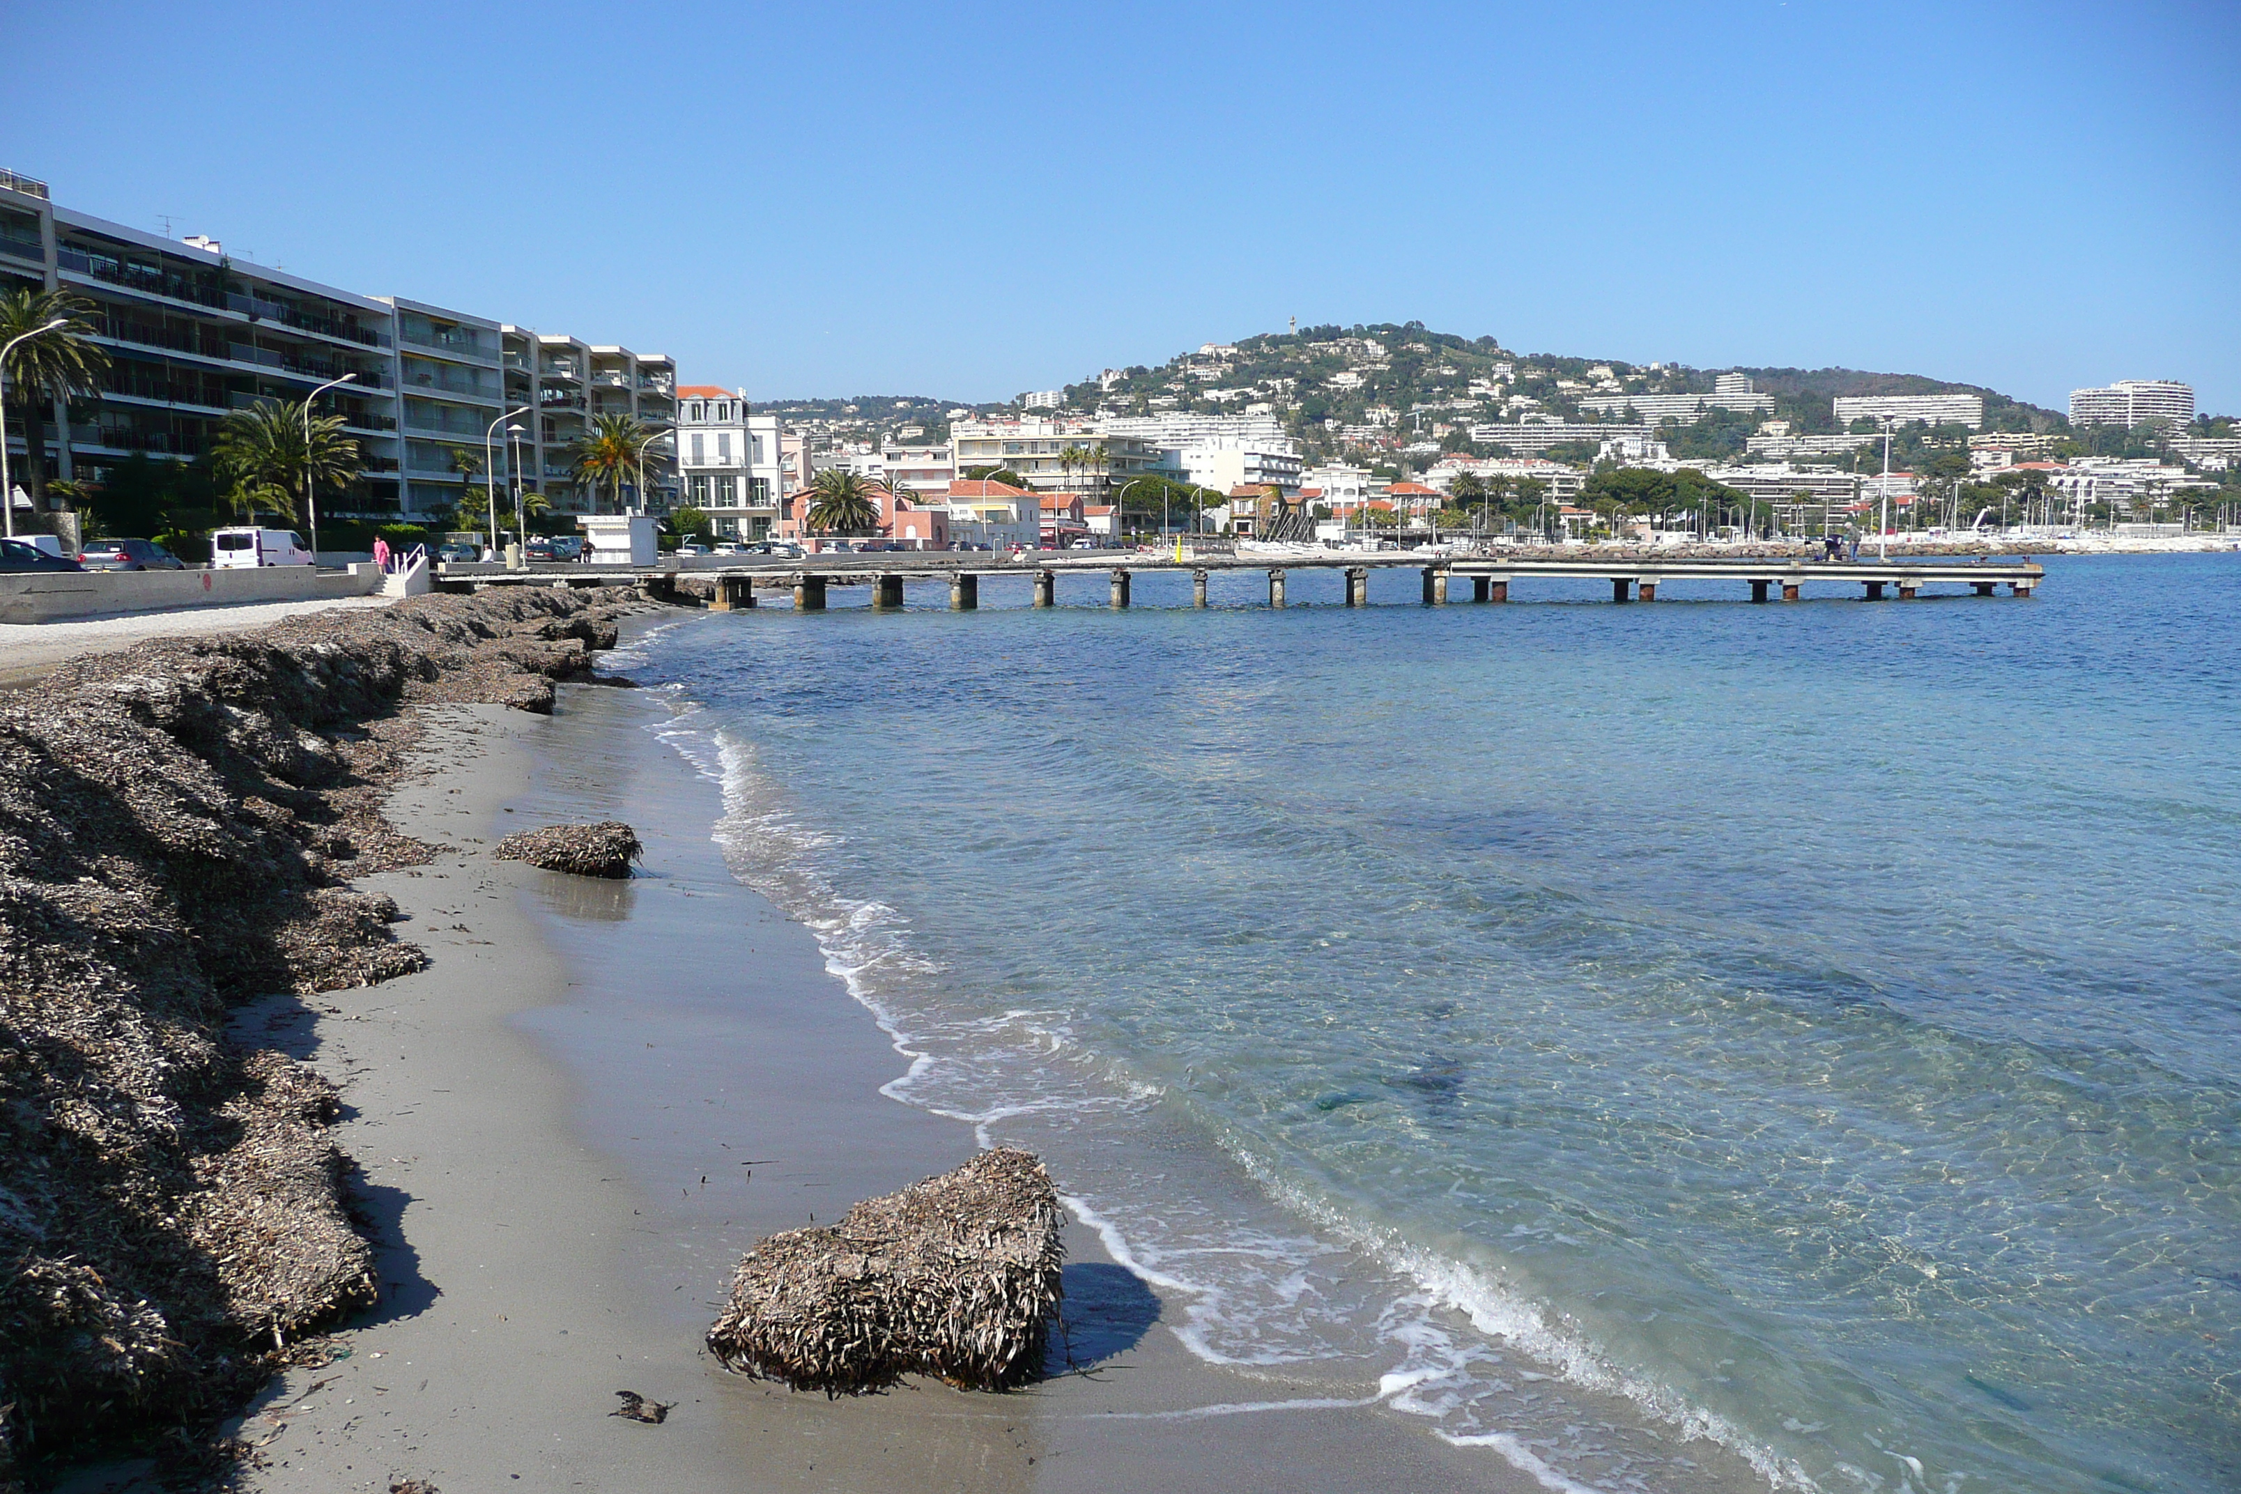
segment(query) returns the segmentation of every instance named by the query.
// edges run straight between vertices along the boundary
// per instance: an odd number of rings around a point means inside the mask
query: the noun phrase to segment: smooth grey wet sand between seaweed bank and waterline
[[[742,1250],[975,1140],[878,1093],[901,1055],[809,932],[731,878],[708,838],[717,788],[643,730],[659,715],[569,688],[554,719],[430,717],[435,773],[392,818],[444,851],[368,885],[433,968],[320,997],[316,1026],[276,1003],[267,1037],[343,1086],[338,1142],[363,1167],[388,1297],[336,1335],[343,1357],[242,1418],[260,1447],[244,1487],[1542,1487],[1371,1404],[1376,1384],[1192,1357],[1163,1326],[1174,1306],[1080,1225],[1080,1373],[825,1400],[719,1371],[699,1335]],[[630,883],[484,853],[509,829],[610,813],[648,844]],[[614,1418],[625,1389],[675,1409]]]

